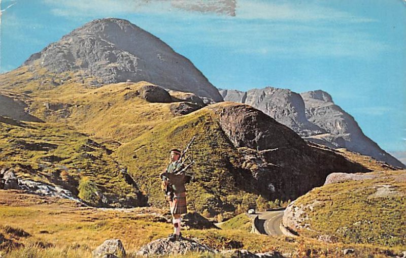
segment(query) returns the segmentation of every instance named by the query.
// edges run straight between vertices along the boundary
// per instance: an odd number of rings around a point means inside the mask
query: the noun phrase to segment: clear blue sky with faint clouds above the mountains
[[[124,18],[189,58],[216,87],[325,90],[365,135],[400,155],[406,151],[405,3],[3,0],[0,69],[20,66],[92,19]]]

